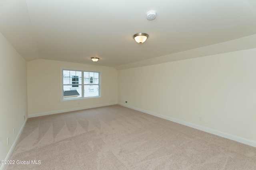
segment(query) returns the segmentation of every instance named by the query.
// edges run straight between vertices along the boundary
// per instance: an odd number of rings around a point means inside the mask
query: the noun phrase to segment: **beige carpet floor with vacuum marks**
[[[256,170],[256,148],[113,105],[28,119],[10,160],[30,164],[8,170]]]

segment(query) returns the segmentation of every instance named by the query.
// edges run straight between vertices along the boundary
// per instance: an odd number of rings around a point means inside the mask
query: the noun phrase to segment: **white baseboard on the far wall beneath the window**
[[[65,113],[65,112],[69,112],[69,111],[91,109],[91,108],[95,108],[95,107],[110,106],[110,105],[115,105],[115,104],[118,104],[118,103],[100,104],[100,105],[94,105],[94,106],[77,107],[77,108],[73,108],[73,109],[49,111],[49,112],[44,112],[44,113],[37,113],[37,114],[33,114],[33,115],[28,115],[28,118],[30,118],[30,117],[38,117],[38,116],[45,116],[45,115],[53,115],[53,114],[57,114],[57,113]]]

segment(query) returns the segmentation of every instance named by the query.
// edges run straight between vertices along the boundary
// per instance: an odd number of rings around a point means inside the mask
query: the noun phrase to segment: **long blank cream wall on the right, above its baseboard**
[[[256,49],[118,70],[118,103],[254,143]]]

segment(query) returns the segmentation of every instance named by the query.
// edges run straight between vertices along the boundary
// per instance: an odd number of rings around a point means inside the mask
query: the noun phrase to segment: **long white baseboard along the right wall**
[[[160,114],[157,114],[157,113],[153,113],[151,111],[147,111],[147,110],[139,109],[139,108],[136,108],[136,107],[128,106],[128,105],[125,105],[125,104],[121,104],[121,103],[118,103],[118,104],[121,105],[121,106],[124,106],[124,107],[128,107],[130,109],[134,109],[134,110],[141,111],[141,112],[144,112],[144,113],[156,116],[156,117],[160,117],[162,119],[166,119],[166,120],[173,121],[173,122],[176,122],[176,123],[188,126],[188,127],[192,127],[194,129],[198,129],[200,131],[204,131],[204,132],[207,132],[207,133],[211,133],[213,135],[217,135],[217,136],[220,136],[220,137],[224,137],[226,139],[230,139],[230,140],[233,140],[233,141],[236,141],[236,142],[240,142],[240,143],[243,143],[243,144],[246,144],[246,145],[250,145],[252,147],[256,147],[256,141],[251,141],[249,139],[245,139],[245,138],[242,138],[242,137],[231,135],[231,134],[228,134],[228,133],[225,133],[225,132],[222,132],[222,131],[217,131],[217,130],[214,130],[214,129],[210,129],[208,127],[196,125],[194,123],[189,123],[189,122],[182,121],[182,120],[179,120],[179,119],[175,119],[175,118],[172,118],[172,117],[167,117],[167,116],[164,116],[164,115],[160,115]]]

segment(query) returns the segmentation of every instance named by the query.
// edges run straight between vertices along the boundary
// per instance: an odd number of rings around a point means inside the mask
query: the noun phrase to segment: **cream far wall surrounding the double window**
[[[100,71],[101,97],[60,102],[61,68]],[[27,63],[27,72],[29,117],[117,104],[117,70],[115,68],[38,59]]]

